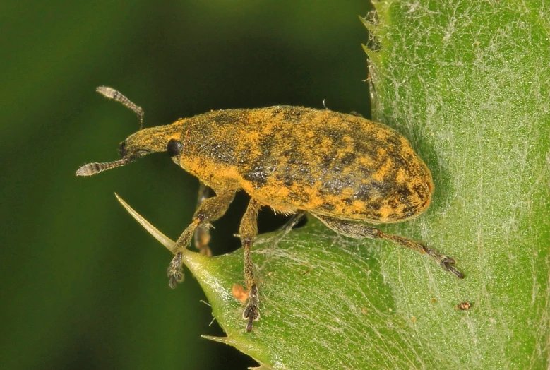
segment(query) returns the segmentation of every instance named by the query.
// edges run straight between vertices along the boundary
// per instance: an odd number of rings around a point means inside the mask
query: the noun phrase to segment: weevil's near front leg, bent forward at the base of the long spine
[[[181,258],[183,257],[184,250],[187,249],[191,238],[197,227],[206,227],[210,224],[210,221],[215,221],[224,215],[229,204],[235,197],[235,191],[225,191],[219,193],[213,198],[208,198],[195,211],[191,224],[184,230],[180,237],[176,241],[174,246],[174,258],[168,266],[167,275],[169,277],[168,285],[171,288],[175,288],[178,282],[184,280],[183,266],[181,265]]]

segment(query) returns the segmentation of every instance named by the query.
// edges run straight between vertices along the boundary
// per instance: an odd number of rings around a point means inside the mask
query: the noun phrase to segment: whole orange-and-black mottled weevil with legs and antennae
[[[170,287],[183,280],[182,252],[193,235],[201,253],[209,254],[210,222],[224,215],[237,191],[249,194],[239,227],[246,331],[260,317],[251,247],[263,206],[288,214],[307,212],[346,237],[385,239],[426,253],[444,270],[464,277],[453,258],[373,226],[417,217],[434,193],[428,167],[394,129],[357,115],[291,106],[223,109],[143,129],[141,107],[112,88],[97,91],[136,112],[141,127],[120,144],[119,160],[89,163],[78,169],[78,176],[167,152],[200,181],[198,208],[177,239],[167,270]],[[214,194],[209,198],[210,189]]]

